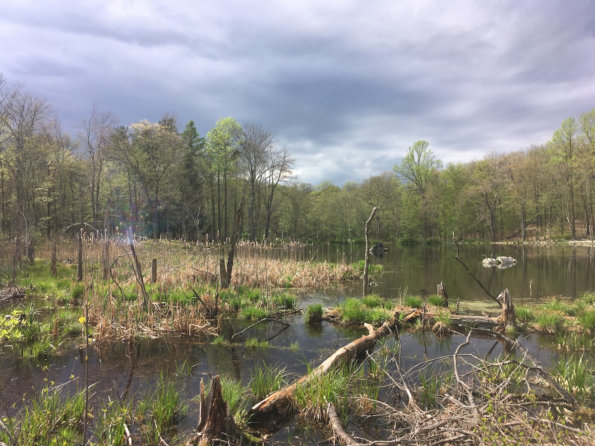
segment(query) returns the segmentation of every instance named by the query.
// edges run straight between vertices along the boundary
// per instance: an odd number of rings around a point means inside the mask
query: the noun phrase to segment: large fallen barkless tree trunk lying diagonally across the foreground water
[[[328,373],[337,365],[349,362],[361,353],[374,347],[374,344],[383,336],[393,332],[394,320],[390,323],[385,322],[383,326],[375,330],[371,325],[364,324],[369,331],[345,347],[339,348],[332,356],[328,357],[321,365],[312,370],[306,376],[298,379],[293,384],[273,392],[264,400],[256,403],[249,410],[248,415],[250,424],[258,426],[260,429],[273,431],[277,429],[279,423],[283,423],[293,414],[294,394],[297,387],[307,387],[315,381],[318,376]]]

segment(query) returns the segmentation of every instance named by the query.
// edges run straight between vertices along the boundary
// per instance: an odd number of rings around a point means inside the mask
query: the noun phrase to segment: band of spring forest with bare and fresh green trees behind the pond
[[[124,226],[147,238],[226,240],[242,199],[245,240],[387,241],[592,238],[595,109],[549,141],[446,166],[424,140],[392,171],[337,186],[293,175],[273,130],[220,118],[204,136],[173,114],[122,125],[93,105],[65,131],[48,101],[0,76],[0,233],[35,240]]]

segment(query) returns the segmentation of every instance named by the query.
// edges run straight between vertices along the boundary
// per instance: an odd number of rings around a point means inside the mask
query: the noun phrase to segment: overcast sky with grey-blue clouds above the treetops
[[[0,73],[74,131],[175,113],[273,131],[299,181],[546,143],[595,108],[592,0],[3,0]]]

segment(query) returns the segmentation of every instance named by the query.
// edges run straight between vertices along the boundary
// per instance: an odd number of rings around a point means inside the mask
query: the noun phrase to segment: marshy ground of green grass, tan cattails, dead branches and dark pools
[[[41,245],[11,288],[24,297],[4,302],[7,372],[26,370],[2,377],[6,444],[184,444],[196,436],[201,388],[208,393],[215,374],[252,441],[593,441],[595,295],[588,291],[518,304],[515,329],[496,338],[457,322],[453,300],[447,307],[435,294],[344,294],[323,305],[328,298],[303,293],[337,284],[361,290],[357,263],[240,245],[224,290],[196,274],[217,271],[220,247],[146,241],[136,245],[141,265],[159,260],[145,306],[126,243],[106,250],[102,240],[83,242],[81,281],[71,262],[77,243],[57,245],[55,275],[52,245]],[[106,254],[117,261],[104,279]],[[372,271],[372,281],[388,274],[381,263]],[[251,421],[258,418],[251,407],[357,341],[364,323],[385,322],[390,331],[373,348],[297,386],[287,407],[295,416],[282,428]]]

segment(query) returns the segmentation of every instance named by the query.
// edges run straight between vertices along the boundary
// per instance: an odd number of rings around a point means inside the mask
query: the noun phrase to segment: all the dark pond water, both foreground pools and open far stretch
[[[374,293],[387,299],[399,299],[404,294],[435,294],[436,285],[446,284],[451,302],[461,300],[461,307],[469,312],[485,308],[495,310],[491,301],[464,267],[454,259],[455,246],[388,246],[382,258],[372,262],[384,266],[384,274],[372,288]],[[309,246],[299,250],[278,250],[272,257],[295,257],[298,259],[337,262],[356,262],[363,258],[361,246]],[[508,269],[483,268],[485,256],[512,256],[518,264]],[[483,282],[494,295],[504,288],[511,291],[516,302],[540,300],[546,296],[563,295],[578,297],[595,289],[595,266],[593,247],[584,246],[503,246],[461,245],[459,258],[471,272]],[[531,281],[533,284],[530,286]],[[299,306],[310,303],[333,306],[346,297],[360,296],[361,284],[351,287],[332,287],[320,290],[295,290]],[[246,328],[249,323],[226,322],[221,333],[231,343],[216,346],[212,338],[165,337],[161,339],[123,342],[92,349],[89,358],[89,382],[93,384],[91,404],[99,411],[109,399],[138,400],[151,392],[161,374],[177,375],[183,382],[184,398],[190,401],[188,416],[180,423],[179,434],[188,435],[196,426],[198,406],[192,398],[198,395],[201,379],[210,381],[211,376],[228,375],[247,385],[255,368],[286,368],[290,379],[307,373],[308,366],[316,366],[338,348],[365,333],[363,329],[345,329],[327,322],[308,324],[301,315],[288,316],[285,327],[277,322],[261,323],[245,333],[232,336]],[[267,348],[248,348],[245,340],[256,337],[270,340]],[[455,334],[448,338],[433,334],[400,334],[389,337],[388,344],[399,344],[403,370],[415,369],[419,362],[452,356],[464,343],[465,336]],[[65,384],[73,390],[83,387],[84,349],[78,341],[63,348],[64,354],[42,362],[18,358],[10,347],[2,349],[3,367],[0,370],[0,400],[8,413],[14,413],[24,402],[28,403],[39,391],[48,386]],[[550,364],[558,353],[547,347],[547,340],[530,336],[521,340],[544,364]],[[502,353],[499,343],[491,339],[475,338],[469,346],[471,353],[497,357]],[[415,379],[415,378],[414,378]],[[49,383],[49,384],[48,384]],[[394,395],[384,395],[393,404]],[[11,405],[15,404],[15,408]],[[309,437],[311,436],[311,437]],[[291,424],[271,438],[292,444],[290,439],[301,438],[308,443],[320,441],[316,433],[304,426]],[[309,440],[308,440],[309,438]]]

